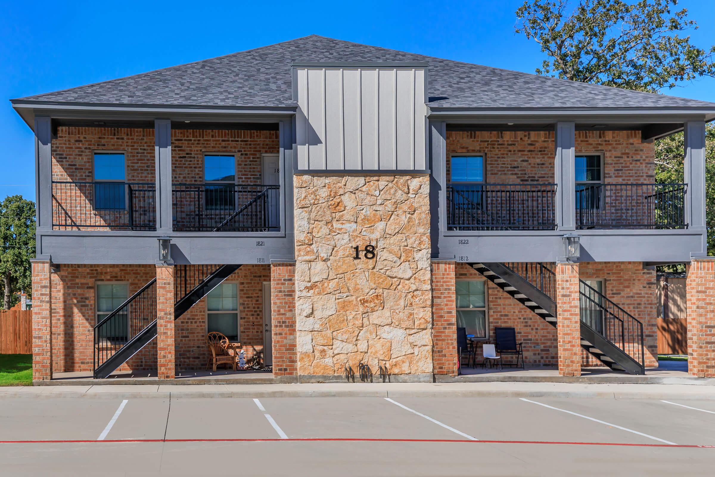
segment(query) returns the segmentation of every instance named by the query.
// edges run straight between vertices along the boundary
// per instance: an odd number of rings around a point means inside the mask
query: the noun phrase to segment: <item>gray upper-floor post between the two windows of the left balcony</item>
[[[172,232],[172,122],[154,119],[154,154],[156,154],[157,232]]]

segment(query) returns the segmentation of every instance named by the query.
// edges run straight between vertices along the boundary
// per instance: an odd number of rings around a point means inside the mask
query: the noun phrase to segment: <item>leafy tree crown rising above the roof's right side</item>
[[[537,74],[584,83],[658,92],[679,82],[715,76],[715,46],[691,44],[697,29],[677,0],[527,0],[516,11],[516,32],[548,56]]]

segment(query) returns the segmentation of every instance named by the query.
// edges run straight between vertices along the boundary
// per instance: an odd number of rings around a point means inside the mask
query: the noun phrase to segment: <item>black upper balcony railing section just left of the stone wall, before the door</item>
[[[174,184],[174,230],[277,232],[280,186]]]

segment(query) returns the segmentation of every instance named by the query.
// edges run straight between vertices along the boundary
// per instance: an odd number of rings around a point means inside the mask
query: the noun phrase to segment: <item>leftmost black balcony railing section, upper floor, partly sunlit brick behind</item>
[[[55,230],[157,230],[153,182],[52,181]]]

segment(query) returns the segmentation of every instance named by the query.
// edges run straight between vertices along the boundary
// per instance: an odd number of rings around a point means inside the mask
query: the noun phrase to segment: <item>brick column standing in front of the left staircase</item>
[[[174,379],[174,266],[157,265],[157,378]]]

